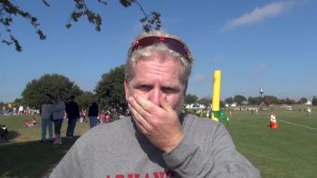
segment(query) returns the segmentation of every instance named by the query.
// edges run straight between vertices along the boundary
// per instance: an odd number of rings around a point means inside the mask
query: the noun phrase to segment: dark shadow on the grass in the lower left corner
[[[38,141],[0,144],[0,177],[48,176],[77,138],[62,138],[62,145]]]

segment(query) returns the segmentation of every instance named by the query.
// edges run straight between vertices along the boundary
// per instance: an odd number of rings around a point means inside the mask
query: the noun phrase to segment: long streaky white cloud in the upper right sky
[[[293,1],[276,2],[262,7],[256,7],[251,12],[230,20],[226,23],[225,29],[229,30],[243,25],[254,24],[266,18],[280,15],[291,5],[293,5]]]

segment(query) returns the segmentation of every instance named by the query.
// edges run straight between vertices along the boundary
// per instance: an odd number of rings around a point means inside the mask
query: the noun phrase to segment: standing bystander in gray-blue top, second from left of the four
[[[55,103],[53,104],[53,123],[55,132],[55,141],[53,142],[54,145],[62,144],[61,128],[64,114],[65,104],[62,101],[62,96],[58,95]]]

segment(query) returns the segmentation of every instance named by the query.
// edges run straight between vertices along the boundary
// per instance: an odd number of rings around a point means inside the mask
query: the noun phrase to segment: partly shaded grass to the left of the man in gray
[[[0,143],[0,177],[43,177],[50,173],[53,166],[71,148],[75,139],[62,138],[62,145],[39,143],[41,126],[25,128],[24,119],[34,116],[1,116],[0,124],[9,129],[9,143]],[[35,116],[41,123],[41,119]],[[62,124],[62,136],[65,135],[67,122]],[[89,130],[89,124],[77,123],[75,135],[81,135]]]

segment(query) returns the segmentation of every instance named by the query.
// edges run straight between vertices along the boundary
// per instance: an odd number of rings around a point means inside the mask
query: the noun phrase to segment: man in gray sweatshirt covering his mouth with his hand
[[[192,62],[177,37],[140,35],[124,81],[132,116],[82,135],[51,177],[260,177],[222,124],[181,113]]]

